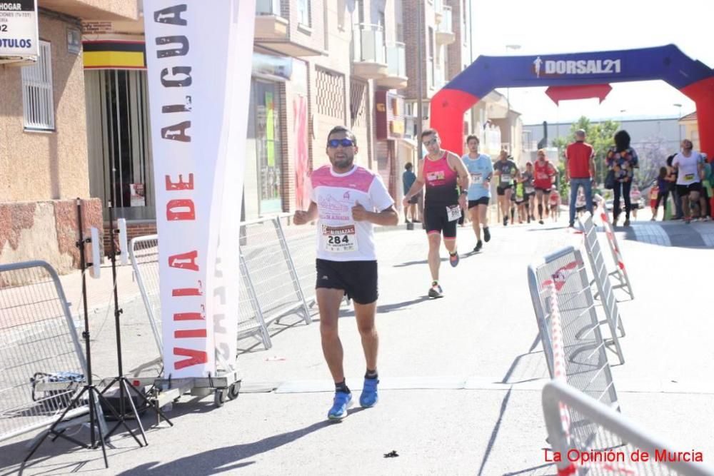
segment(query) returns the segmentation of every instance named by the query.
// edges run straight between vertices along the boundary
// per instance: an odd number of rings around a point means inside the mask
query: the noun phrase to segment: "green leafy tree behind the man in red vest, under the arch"
[[[570,125],[568,137],[557,137],[553,139],[552,144],[553,147],[558,148],[558,156],[563,158],[565,156],[565,148],[568,147],[569,143],[575,142],[575,131],[583,129],[585,131],[585,142],[593,146],[595,151],[595,178],[598,183],[603,183],[608,173],[607,168],[605,168],[605,156],[607,156],[610,146],[615,144],[613,137],[619,128],[620,123],[615,121],[603,121],[593,124],[590,119],[580,116],[578,121]],[[564,170],[565,168],[563,168]],[[565,196],[568,186],[563,183],[564,181],[560,182],[560,195]]]

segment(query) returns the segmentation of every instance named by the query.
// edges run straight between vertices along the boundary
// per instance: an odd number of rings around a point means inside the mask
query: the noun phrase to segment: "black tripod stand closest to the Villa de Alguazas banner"
[[[169,418],[166,417],[164,412],[161,411],[161,408],[159,408],[158,405],[154,405],[151,403],[151,401],[146,398],[146,395],[144,393],[140,392],[138,388],[134,387],[131,382],[129,382],[129,379],[124,377],[124,370],[123,370],[123,364],[122,364],[122,358],[121,358],[121,330],[119,329],[119,315],[124,312],[124,310],[119,309],[119,297],[118,293],[116,290],[116,245],[114,243],[114,235],[118,232],[114,228],[114,208],[111,205],[111,201],[108,203],[109,208],[109,235],[110,239],[109,241],[111,244],[109,245],[109,257],[111,260],[111,280],[112,283],[114,283],[114,328],[116,330],[116,360],[118,364],[118,371],[119,371],[119,376],[112,379],[109,385],[102,390],[102,394],[106,393],[107,390],[112,388],[115,384],[119,385],[119,413],[121,414],[121,420],[116,422],[116,425],[109,430],[109,432],[106,433],[106,436],[112,435],[118,428],[119,425],[124,423],[124,420],[126,418],[126,402],[125,402],[125,397],[129,397],[129,404],[131,405],[131,412],[136,418],[136,422],[139,425],[139,431],[141,431],[141,437],[144,438],[144,445],[149,445],[149,442],[146,441],[146,433],[144,432],[144,425],[141,424],[141,418],[139,417],[139,412],[136,411],[136,405],[134,405],[134,400],[131,398],[131,392],[134,392],[134,394],[139,397],[139,400],[141,402],[144,402],[144,405],[148,405],[151,407],[154,412],[156,412],[156,415],[161,415],[161,417],[164,418],[167,422],[169,422],[169,425],[174,426],[174,423],[169,420]],[[124,423],[126,426],[126,423]],[[134,436],[132,434],[132,436]],[[136,437],[134,437],[136,439]],[[139,442],[139,440],[136,440]],[[141,442],[139,442],[139,446],[141,446]]]

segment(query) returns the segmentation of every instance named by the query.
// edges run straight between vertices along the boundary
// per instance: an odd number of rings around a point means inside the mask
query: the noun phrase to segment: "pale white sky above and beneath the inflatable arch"
[[[472,1],[475,54],[536,55],[606,51],[675,44],[684,54],[714,67],[714,4],[711,0],[678,0],[657,4],[645,0]],[[586,9],[580,10],[578,6]],[[508,15],[510,12],[517,12]],[[709,24],[708,24],[709,22]],[[506,45],[520,45],[517,51]],[[676,117],[695,110],[694,103],[663,81],[613,83],[603,103],[598,99],[561,102],[555,106],[545,88],[511,88],[511,105],[523,123],[592,119]],[[506,90],[499,89],[503,94]]]

